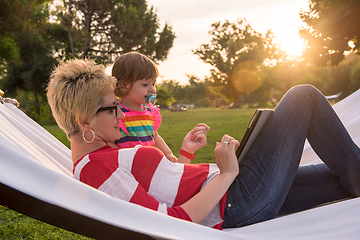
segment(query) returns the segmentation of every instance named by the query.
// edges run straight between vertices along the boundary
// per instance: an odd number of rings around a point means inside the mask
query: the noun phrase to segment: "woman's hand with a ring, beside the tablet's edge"
[[[240,146],[239,141],[225,134],[221,143],[217,142],[214,149],[216,164],[221,173],[230,173],[237,176],[239,174],[239,164],[235,154],[235,149]]]

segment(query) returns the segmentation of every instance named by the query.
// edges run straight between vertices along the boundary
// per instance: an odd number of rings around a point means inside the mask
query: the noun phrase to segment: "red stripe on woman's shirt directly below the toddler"
[[[151,179],[163,156],[159,149],[148,146],[140,147],[134,156],[131,173],[146,192],[149,191]],[[144,159],[151,159],[151,161],[144,161]]]

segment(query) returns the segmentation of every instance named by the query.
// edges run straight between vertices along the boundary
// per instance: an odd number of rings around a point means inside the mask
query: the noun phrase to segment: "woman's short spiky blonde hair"
[[[77,121],[88,121],[113,92],[116,79],[92,60],[69,60],[51,73],[47,98],[55,121],[69,137],[79,131]]]

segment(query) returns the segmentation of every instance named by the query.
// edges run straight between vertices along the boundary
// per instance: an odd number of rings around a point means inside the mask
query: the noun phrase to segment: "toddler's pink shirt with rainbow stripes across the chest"
[[[120,148],[131,148],[136,145],[154,146],[154,134],[161,124],[159,109],[151,104],[144,104],[143,111],[134,111],[120,103],[119,108],[125,117],[120,119],[121,138],[115,143]]]

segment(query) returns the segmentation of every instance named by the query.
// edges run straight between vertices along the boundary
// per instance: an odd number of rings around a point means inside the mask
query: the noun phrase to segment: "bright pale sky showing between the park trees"
[[[187,84],[186,74],[199,79],[210,76],[211,66],[192,53],[201,44],[210,43],[208,32],[214,22],[232,23],[245,18],[257,32],[271,29],[282,49],[289,55],[300,55],[303,41],[298,29],[304,26],[300,10],[308,9],[308,0],[147,0],[156,10],[160,24],[173,27],[176,38],[168,58],[158,65],[162,80]]]

